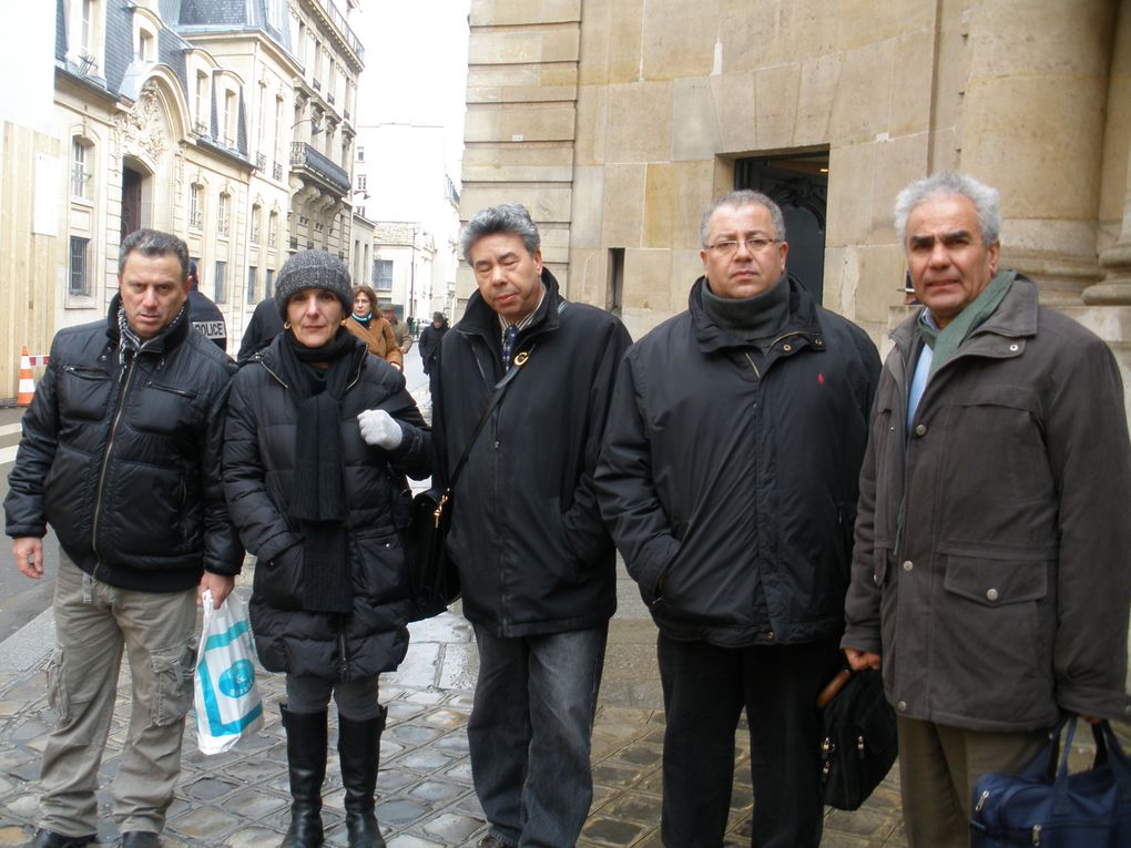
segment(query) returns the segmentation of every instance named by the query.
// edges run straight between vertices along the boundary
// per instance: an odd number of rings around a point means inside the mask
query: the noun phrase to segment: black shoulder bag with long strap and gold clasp
[[[460,471],[467,464],[472,445],[483,432],[483,426],[491,417],[491,413],[502,400],[507,387],[510,386],[510,382],[529,358],[529,352],[516,355],[507,373],[495,383],[487,407],[478,424],[475,425],[475,431],[472,433],[467,447],[464,448],[464,455],[448,478],[448,485],[442,490],[433,487],[421,492],[412,497],[411,505],[407,508],[402,504],[399,509],[395,509],[402,514],[407,513],[403,522],[397,523],[397,527],[398,529],[404,528],[402,538],[408,556],[412,579],[413,609],[409,614],[409,621],[421,621],[439,615],[459,598],[459,570],[448,556],[446,545],[448,530],[451,528],[452,490]],[[400,487],[403,500],[407,485],[408,482],[404,481],[404,486]],[[407,496],[411,497],[412,493],[408,492]]]

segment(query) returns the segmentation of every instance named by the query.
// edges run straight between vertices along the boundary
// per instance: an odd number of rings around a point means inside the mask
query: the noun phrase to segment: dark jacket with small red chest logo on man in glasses
[[[624,357],[602,511],[666,635],[743,647],[837,634],[875,346],[789,280],[789,321],[756,365],[707,315],[703,285]]]

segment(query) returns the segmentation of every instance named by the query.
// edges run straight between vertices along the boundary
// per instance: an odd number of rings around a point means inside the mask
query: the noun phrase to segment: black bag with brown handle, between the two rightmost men
[[[879,672],[841,670],[817,700],[821,710],[821,790],[837,810],[858,810],[896,761],[896,712]]]

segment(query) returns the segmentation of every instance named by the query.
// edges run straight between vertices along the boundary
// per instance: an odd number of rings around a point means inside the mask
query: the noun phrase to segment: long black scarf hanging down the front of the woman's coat
[[[303,535],[303,608],[317,613],[348,613],[353,602],[338,418],[356,345],[345,329],[323,347],[305,347],[293,332],[279,345],[280,369],[299,397],[291,518]]]

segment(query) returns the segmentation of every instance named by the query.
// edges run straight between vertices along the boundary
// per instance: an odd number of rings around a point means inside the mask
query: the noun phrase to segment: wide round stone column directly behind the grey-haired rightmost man
[[[969,14],[959,162],[1001,190],[1002,259],[1042,301],[1099,282],[1099,202],[1119,0],[984,0]]]

